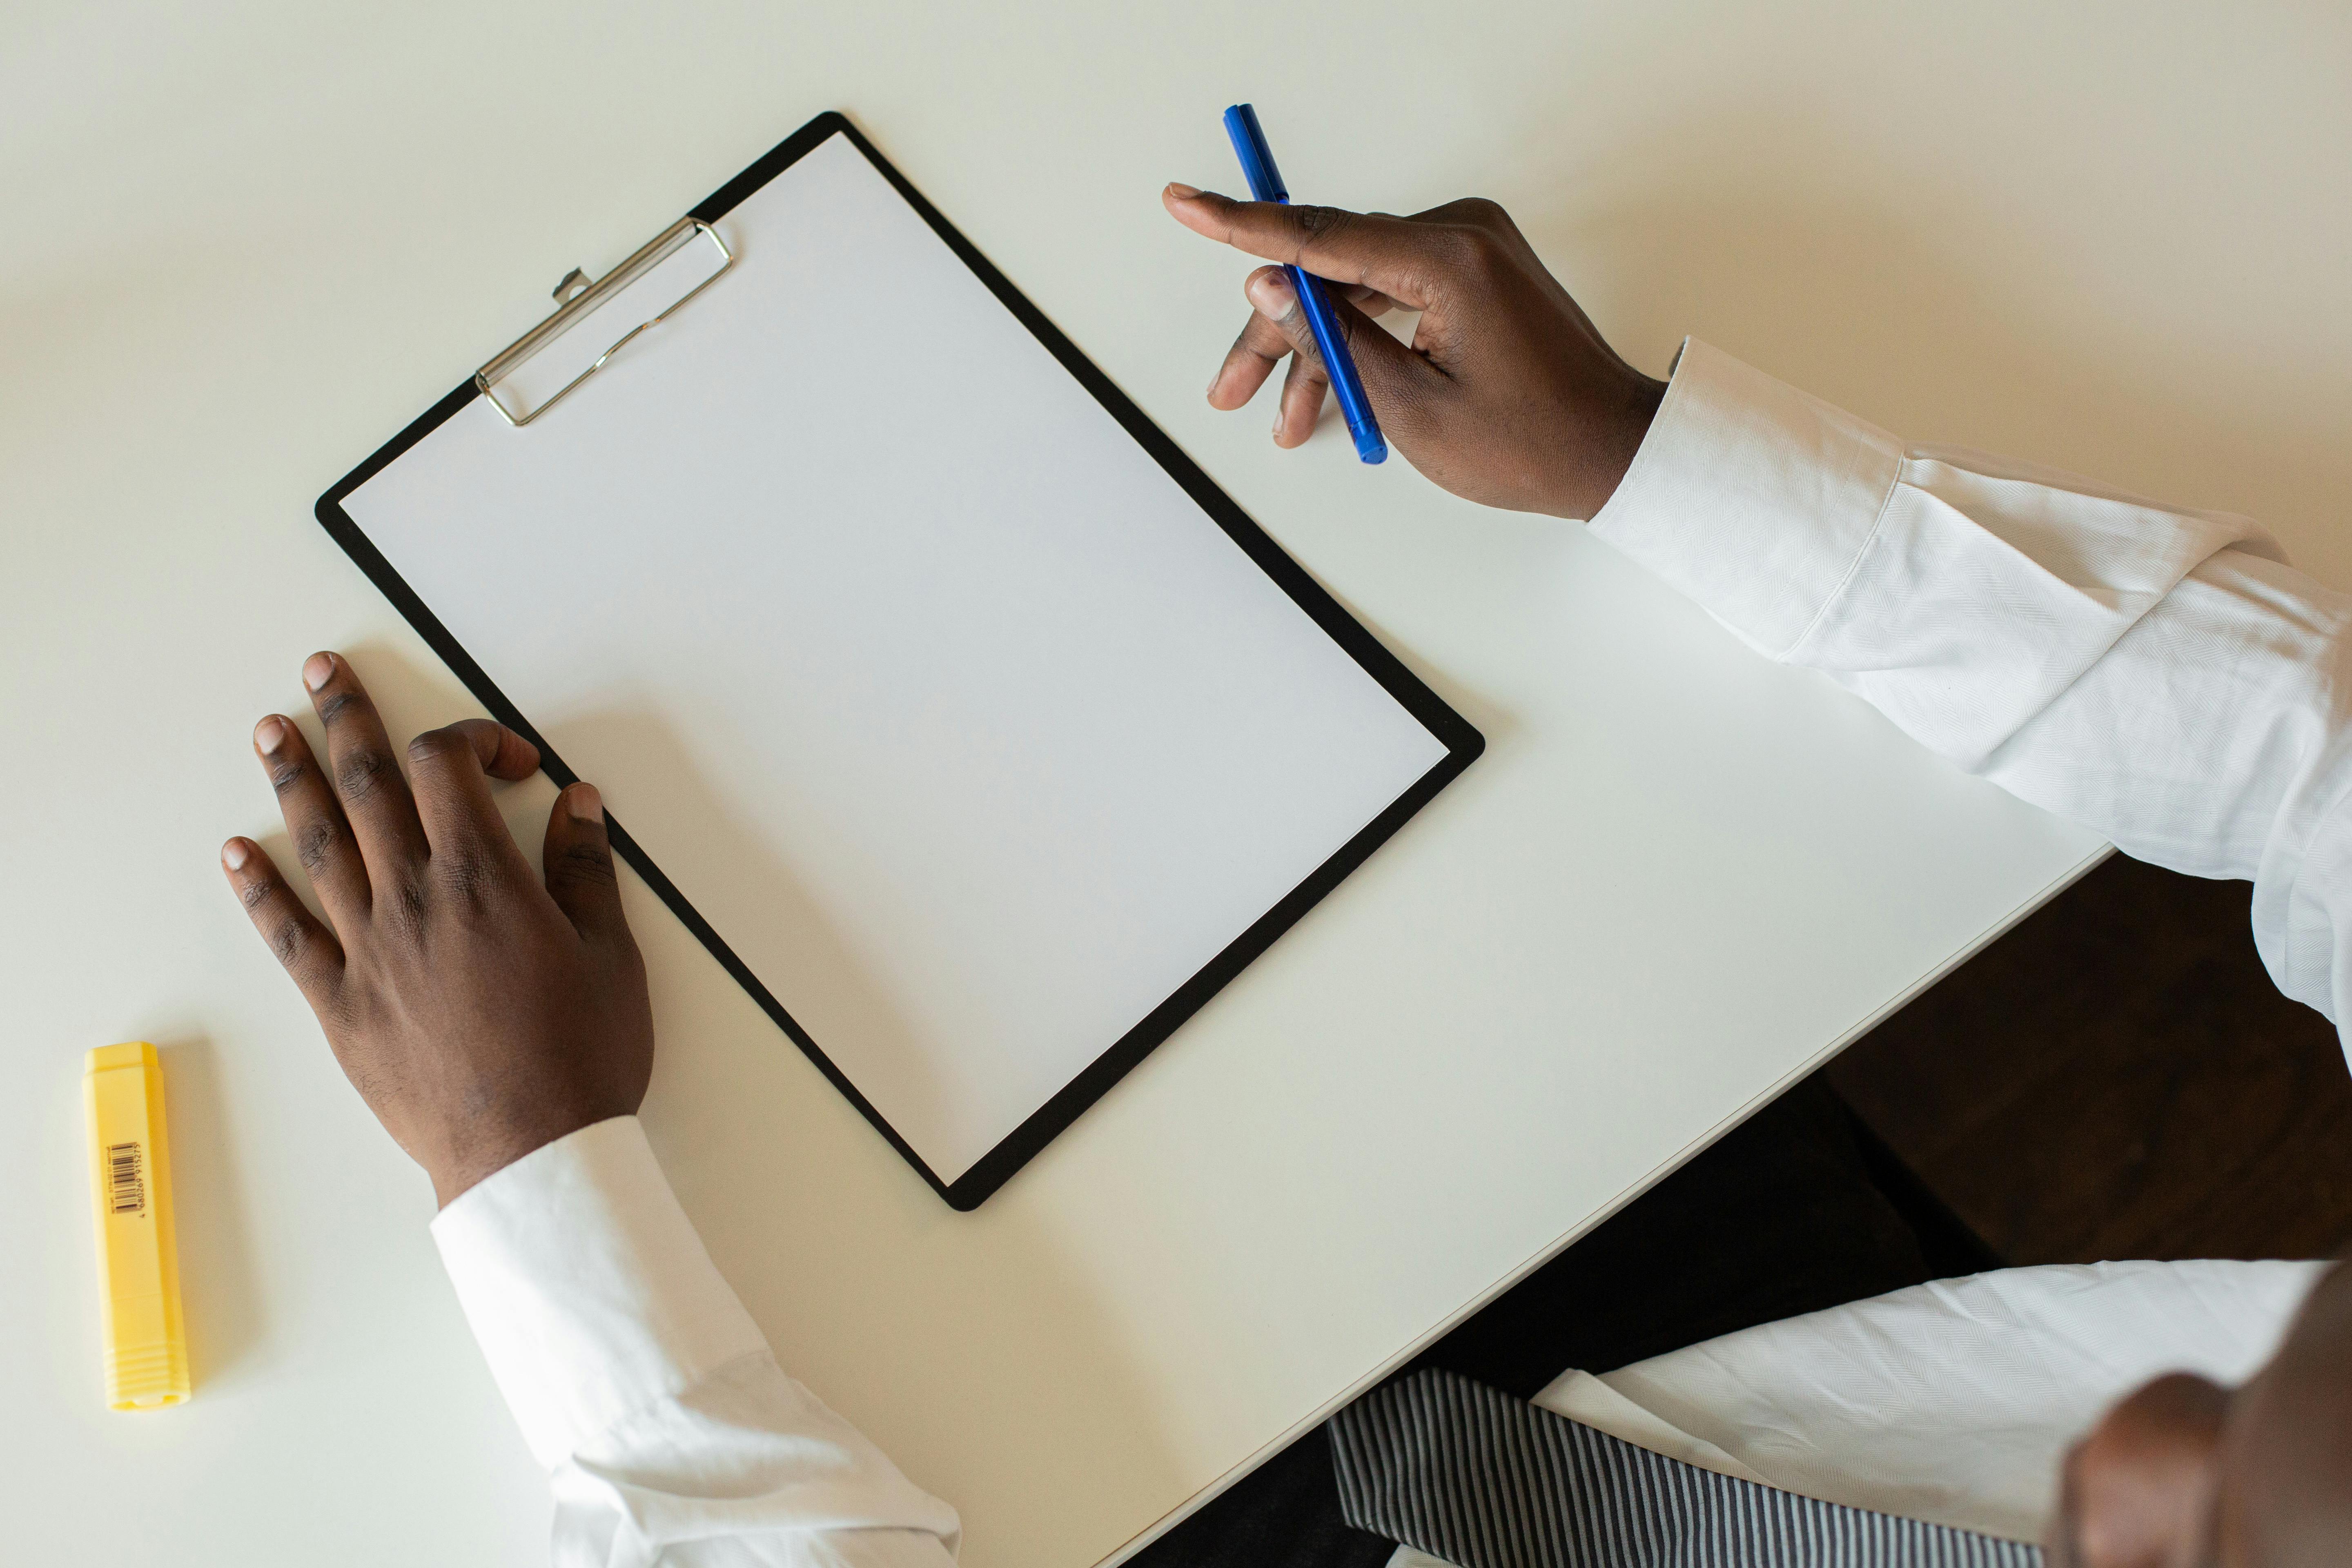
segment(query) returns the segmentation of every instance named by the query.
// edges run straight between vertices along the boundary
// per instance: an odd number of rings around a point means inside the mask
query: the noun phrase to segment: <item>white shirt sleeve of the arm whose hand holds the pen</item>
[[[2272,978],[2352,1018],[2352,599],[2244,517],[1905,447],[1686,341],[1592,531],[1955,764],[2253,879]]]

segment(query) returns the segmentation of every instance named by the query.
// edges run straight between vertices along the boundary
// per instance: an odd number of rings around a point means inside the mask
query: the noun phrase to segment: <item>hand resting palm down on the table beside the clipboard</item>
[[[541,882],[489,785],[539,769],[529,741],[461,719],[416,736],[402,778],[348,661],[313,654],[303,684],[327,764],[278,715],[254,726],[254,755],[327,924],[252,839],[228,839],[221,865],[383,1131],[449,1204],[564,1133],[635,1114],[654,1013],[595,788],[555,799]]]

